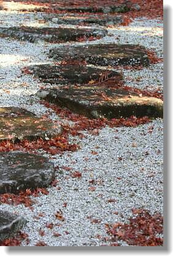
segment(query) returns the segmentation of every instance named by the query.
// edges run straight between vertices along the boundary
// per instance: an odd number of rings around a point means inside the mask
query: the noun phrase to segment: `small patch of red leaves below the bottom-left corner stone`
[[[19,231],[15,238],[0,241],[0,246],[20,246],[23,240],[26,240],[26,244],[29,244],[28,234]]]

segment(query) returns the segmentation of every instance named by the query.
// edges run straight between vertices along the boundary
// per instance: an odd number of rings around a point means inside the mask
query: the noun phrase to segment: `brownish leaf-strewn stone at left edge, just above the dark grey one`
[[[43,138],[58,137],[62,132],[60,126],[49,119],[37,118],[37,116],[22,108],[0,107],[0,142],[11,140],[37,140]]]

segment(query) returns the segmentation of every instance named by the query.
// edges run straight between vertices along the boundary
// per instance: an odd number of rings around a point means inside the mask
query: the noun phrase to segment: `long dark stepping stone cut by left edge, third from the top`
[[[0,28],[0,37],[10,37],[22,41],[38,42],[67,42],[79,41],[80,38],[102,38],[107,30],[94,28],[34,28],[29,26]]]

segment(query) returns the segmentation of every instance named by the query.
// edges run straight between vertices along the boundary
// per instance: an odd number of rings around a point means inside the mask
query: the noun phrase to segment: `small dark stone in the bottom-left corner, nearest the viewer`
[[[0,210],[0,241],[15,236],[25,223],[25,218],[5,210]]]

